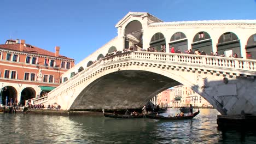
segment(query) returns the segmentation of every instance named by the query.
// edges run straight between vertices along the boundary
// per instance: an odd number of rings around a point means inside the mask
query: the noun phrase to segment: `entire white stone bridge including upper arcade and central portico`
[[[116,38],[63,74],[67,81],[41,101],[67,110],[139,107],[182,83],[222,114],[256,111],[255,60],[245,59],[255,57],[255,21],[163,22],[129,13],[116,27]],[[243,58],[229,58],[234,53]]]

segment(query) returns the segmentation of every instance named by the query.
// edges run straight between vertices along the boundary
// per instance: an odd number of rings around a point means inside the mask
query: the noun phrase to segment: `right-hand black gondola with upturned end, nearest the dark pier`
[[[192,115],[188,116],[174,116],[174,117],[165,117],[165,116],[160,116],[160,115],[146,115],[147,118],[152,118],[152,119],[165,119],[165,120],[181,120],[181,119],[191,119],[197,116],[200,113],[198,110],[197,112],[193,113]]]

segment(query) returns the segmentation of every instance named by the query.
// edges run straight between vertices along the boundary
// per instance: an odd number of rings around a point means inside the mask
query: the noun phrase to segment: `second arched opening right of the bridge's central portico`
[[[180,50],[182,53],[188,50],[188,39],[182,32],[176,32],[172,35],[169,43],[169,51],[174,47],[174,50]]]

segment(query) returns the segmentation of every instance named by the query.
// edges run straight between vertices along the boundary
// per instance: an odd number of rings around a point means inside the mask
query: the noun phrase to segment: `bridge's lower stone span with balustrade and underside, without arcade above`
[[[132,51],[101,59],[35,104],[65,110],[138,108],[182,83],[222,115],[256,112],[256,61],[183,53]]]

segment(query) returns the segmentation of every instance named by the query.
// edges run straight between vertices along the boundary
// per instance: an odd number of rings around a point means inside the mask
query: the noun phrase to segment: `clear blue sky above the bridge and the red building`
[[[0,44],[25,39],[75,63],[117,36],[115,24],[129,11],[168,21],[256,19],[256,0],[1,0]]]

